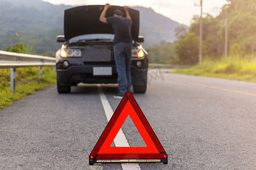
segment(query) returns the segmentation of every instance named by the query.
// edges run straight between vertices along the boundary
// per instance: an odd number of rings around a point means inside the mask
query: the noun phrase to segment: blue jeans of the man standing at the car
[[[117,67],[119,91],[131,90],[131,48],[132,44],[118,42],[114,45],[114,59]]]

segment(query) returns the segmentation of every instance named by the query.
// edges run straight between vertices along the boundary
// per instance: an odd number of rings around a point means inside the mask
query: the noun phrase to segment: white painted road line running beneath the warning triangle
[[[104,92],[102,91],[101,85],[97,84],[97,87],[98,87],[98,92],[100,94],[101,103],[106,114],[106,118],[109,122],[114,112],[109,104],[108,99],[106,98]],[[119,130],[117,136],[115,137],[114,143],[116,147],[121,147],[121,146],[130,147],[125,137],[125,134],[123,134],[122,128]],[[141,167],[139,167],[139,164],[121,164],[121,165],[123,170],[141,169]]]

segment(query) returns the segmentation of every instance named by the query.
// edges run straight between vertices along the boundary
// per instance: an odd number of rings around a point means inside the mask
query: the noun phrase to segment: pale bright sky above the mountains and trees
[[[155,12],[185,25],[190,25],[194,15],[200,15],[200,0],[42,0],[55,5],[120,5],[151,7]],[[203,13],[217,16],[226,0],[203,0]]]

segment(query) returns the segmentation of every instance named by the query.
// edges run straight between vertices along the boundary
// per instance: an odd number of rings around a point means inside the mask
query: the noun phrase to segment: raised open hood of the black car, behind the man
[[[65,39],[86,35],[90,33],[114,33],[111,24],[100,22],[99,18],[104,5],[89,5],[69,8],[64,15]],[[112,6],[106,12],[106,18],[113,16],[113,11],[119,9],[125,15],[121,6]],[[139,35],[139,11],[129,9],[133,25],[131,26],[131,36],[137,41]]]

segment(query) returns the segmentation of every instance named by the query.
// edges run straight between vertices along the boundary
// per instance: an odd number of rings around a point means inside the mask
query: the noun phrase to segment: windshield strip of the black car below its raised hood
[[[69,40],[69,44],[81,42],[81,41],[113,41],[114,35],[113,34],[106,34],[106,33],[94,33],[88,35],[80,35],[73,37]]]

